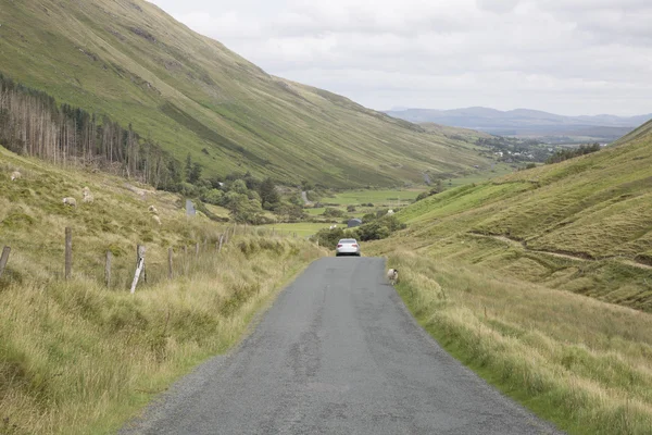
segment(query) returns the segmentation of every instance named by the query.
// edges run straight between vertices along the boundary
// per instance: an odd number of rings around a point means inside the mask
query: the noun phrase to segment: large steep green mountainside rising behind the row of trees
[[[142,0],[0,4],[2,72],[191,152],[206,174],[350,187],[484,162],[464,141],[269,76]]]

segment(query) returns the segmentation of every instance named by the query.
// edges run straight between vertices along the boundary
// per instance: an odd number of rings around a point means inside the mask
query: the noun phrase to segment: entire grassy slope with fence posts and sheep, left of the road
[[[23,177],[11,182],[14,170]],[[62,203],[64,196],[79,200],[84,186],[92,204]],[[66,226],[70,282],[61,279]],[[188,220],[171,194],[0,147],[0,247],[12,248],[0,278],[0,433],[114,433],[176,377],[231,346],[283,283],[323,254],[301,239],[241,235],[217,253],[224,231],[205,217]],[[138,243],[147,246],[148,279],[130,296]],[[114,256],[110,289],[106,250]]]

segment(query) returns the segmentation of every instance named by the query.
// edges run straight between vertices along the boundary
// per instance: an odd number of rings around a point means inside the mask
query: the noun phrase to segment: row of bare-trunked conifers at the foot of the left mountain
[[[181,181],[177,161],[108,116],[98,117],[0,74],[0,142],[61,165],[87,165],[158,188]]]

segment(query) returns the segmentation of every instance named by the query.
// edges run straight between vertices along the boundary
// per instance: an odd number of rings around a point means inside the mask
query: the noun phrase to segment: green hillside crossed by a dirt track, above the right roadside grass
[[[427,198],[405,244],[652,312],[652,123],[594,154]]]

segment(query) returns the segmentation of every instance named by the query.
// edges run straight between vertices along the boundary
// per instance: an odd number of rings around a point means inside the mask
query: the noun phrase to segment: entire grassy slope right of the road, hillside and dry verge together
[[[447,190],[366,252],[400,270],[448,351],[539,415],[570,434],[652,433],[651,151],[648,123],[599,153]]]

